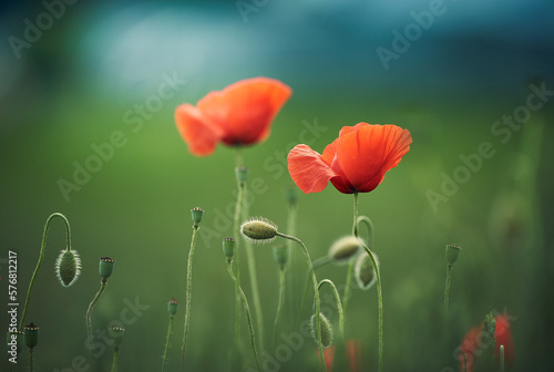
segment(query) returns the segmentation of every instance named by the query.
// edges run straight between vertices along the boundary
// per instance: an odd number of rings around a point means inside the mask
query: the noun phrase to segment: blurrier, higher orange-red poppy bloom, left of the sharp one
[[[175,122],[189,152],[206,156],[218,142],[247,146],[266,140],[273,120],[291,94],[278,80],[242,80],[208,93],[196,106],[182,104],[175,110]]]

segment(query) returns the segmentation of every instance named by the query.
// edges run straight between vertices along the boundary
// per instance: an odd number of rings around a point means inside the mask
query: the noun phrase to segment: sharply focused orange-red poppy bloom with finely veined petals
[[[307,145],[288,154],[288,172],[306,194],[319,193],[330,180],[343,194],[369,193],[410,149],[410,132],[396,125],[359,123],[343,126],[322,155]]]

